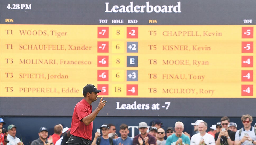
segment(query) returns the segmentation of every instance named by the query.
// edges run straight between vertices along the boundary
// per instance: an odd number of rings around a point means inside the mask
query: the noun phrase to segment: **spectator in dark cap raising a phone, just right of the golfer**
[[[116,141],[113,138],[108,136],[109,129],[110,129],[108,124],[101,125],[100,129],[101,129],[102,136],[100,136],[99,132],[96,132],[92,145],[96,145],[96,144],[97,145],[106,145],[106,144],[115,145]]]

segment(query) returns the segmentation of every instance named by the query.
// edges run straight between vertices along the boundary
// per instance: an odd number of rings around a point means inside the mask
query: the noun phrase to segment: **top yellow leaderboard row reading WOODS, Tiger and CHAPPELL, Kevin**
[[[255,25],[10,25],[1,38],[30,40],[240,40],[255,38]]]

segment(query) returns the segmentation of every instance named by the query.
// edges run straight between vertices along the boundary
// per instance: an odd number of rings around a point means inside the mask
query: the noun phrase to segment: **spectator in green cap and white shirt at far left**
[[[17,127],[13,124],[8,126],[7,140],[9,142],[7,143],[7,145],[23,145],[23,142],[21,142],[20,139],[16,137],[16,129]]]

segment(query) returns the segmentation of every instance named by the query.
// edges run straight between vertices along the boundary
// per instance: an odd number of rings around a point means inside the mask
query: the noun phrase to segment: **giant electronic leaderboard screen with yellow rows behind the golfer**
[[[0,4],[1,115],[256,116],[256,1]]]

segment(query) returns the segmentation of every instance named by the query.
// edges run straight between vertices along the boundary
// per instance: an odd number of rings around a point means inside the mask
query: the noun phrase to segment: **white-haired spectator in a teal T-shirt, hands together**
[[[166,144],[167,145],[190,144],[189,137],[182,133],[184,130],[183,123],[180,121],[176,122],[174,128],[175,128],[175,133],[167,137]]]

